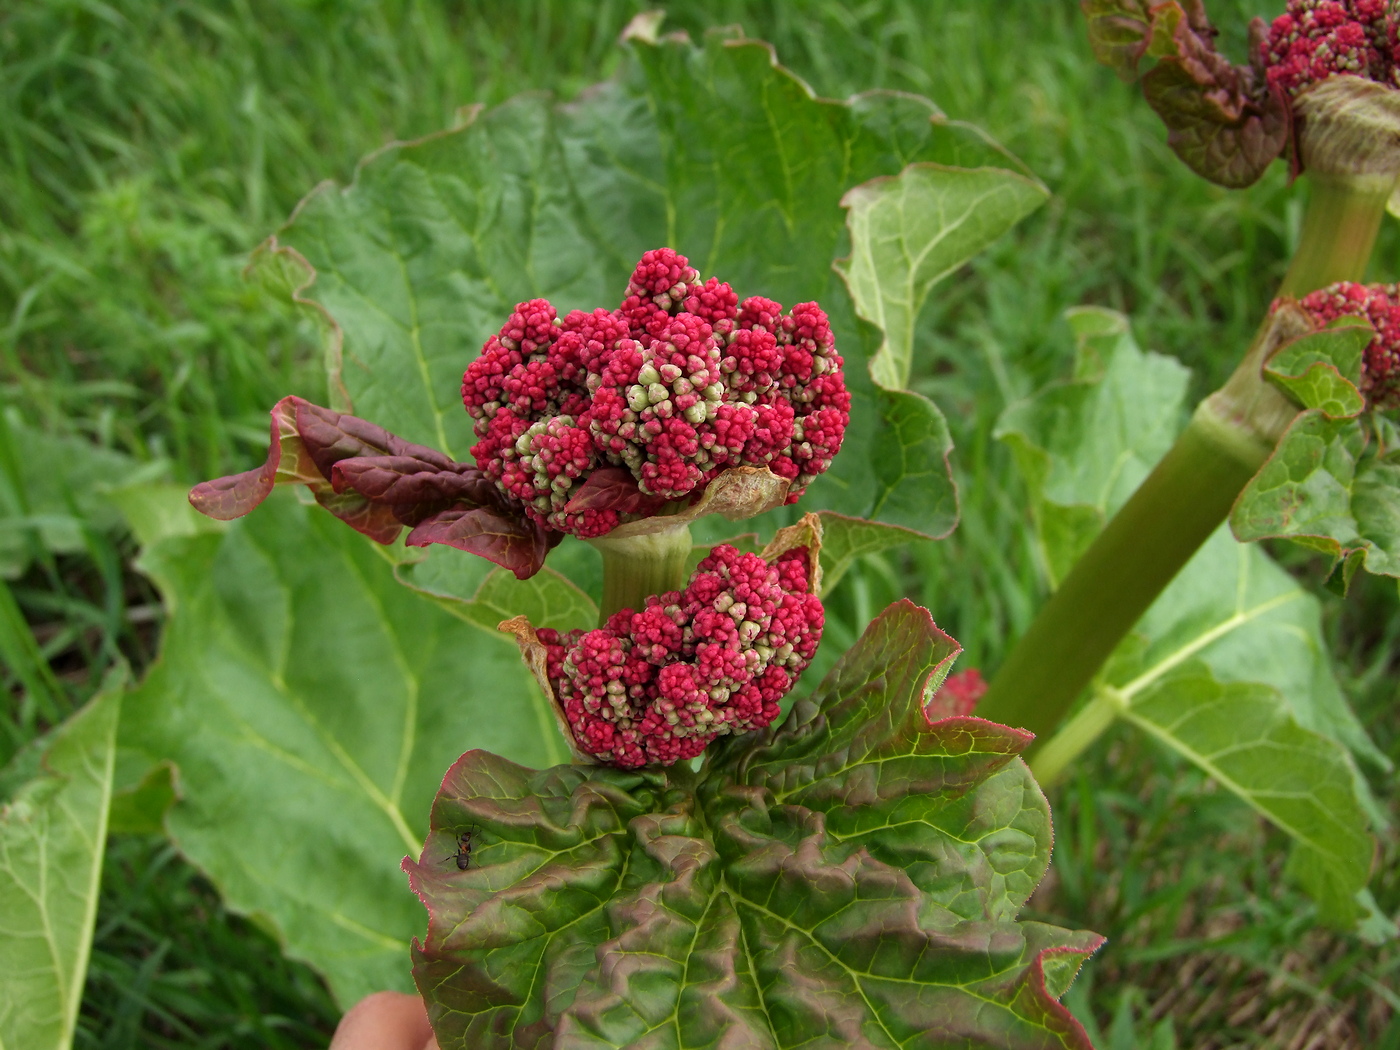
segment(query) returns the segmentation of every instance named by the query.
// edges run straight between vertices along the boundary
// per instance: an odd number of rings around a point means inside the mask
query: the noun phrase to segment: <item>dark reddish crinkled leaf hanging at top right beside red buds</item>
[[[1124,80],[1144,57],[1158,62],[1142,94],[1168,127],[1166,141],[1197,175],[1239,189],[1259,181],[1289,143],[1288,102],[1256,64],[1233,66],[1215,50],[1201,0],[1079,0],[1093,53]],[[1259,55],[1267,27],[1250,25]]]

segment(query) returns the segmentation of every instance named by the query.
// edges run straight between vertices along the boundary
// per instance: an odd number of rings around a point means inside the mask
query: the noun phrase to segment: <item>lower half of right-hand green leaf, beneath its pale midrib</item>
[[[1221,682],[1186,661],[1151,683],[1117,693],[1121,717],[1186,755],[1294,840],[1289,869],[1324,918],[1359,917],[1372,841],[1352,770],[1336,742],[1303,729],[1278,692]]]

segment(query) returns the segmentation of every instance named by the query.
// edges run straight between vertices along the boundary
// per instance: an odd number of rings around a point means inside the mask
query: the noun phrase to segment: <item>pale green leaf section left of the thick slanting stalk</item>
[[[1140,350],[1121,314],[1085,307],[1067,319],[1075,378],[1008,406],[995,430],[1030,489],[1051,584],[1172,447],[1190,381],[1176,358]]]

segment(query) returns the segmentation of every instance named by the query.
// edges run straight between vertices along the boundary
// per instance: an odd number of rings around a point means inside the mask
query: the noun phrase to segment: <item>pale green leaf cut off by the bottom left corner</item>
[[[0,1047],[67,1050],[97,923],[116,724],[109,683],[0,797]],[[7,777],[8,780],[8,777]]]

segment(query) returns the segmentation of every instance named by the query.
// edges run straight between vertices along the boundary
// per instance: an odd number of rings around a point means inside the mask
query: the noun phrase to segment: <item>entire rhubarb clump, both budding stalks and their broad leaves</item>
[[[907,601],[823,650],[823,595],[956,525],[921,311],[1046,188],[925,99],[819,99],[766,45],[641,17],[609,83],[392,144],[256,253],[321,326],[328,403],[272,406],[202,518],[129,497],[175,616],[113,813],[347,1005],[412,958],[444,1049],[1086,1047],[1060,1000],[1102,939],[1019,913],[1036,777],[1116,721],[1282,829],[1322,918],[1393,935],[1365,889],[1389,762],[1317,601],[1242,540],[1340,591],[1400,574],[1400,295],[1358,283],[1396,20],[1292,0],[1236,66],[1200,0],[1084,8],[1194,171],[1282,158],[1312,195],[1189,420],[1186,370],[1100,309],[1007,407],[1053,595],[990,685]]]

